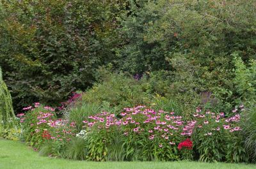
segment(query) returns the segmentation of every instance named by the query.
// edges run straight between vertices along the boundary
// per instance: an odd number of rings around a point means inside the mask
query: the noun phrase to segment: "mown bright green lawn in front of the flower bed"
[[[87,161],[70,161],[66,159],[55,159],[38,156],[37,152],[24,145],[24,143],[13,142],[0,139],[0,168],[24,168],[24,169],[72,169],[72,168],[97,168],[97,169],[123,169],[123,168],[140,168],[140,169],[200,169],[200,168],[230,168],[246,169],[256,168],[256,165],[245,164],[226,164],[226,163],[196,163],[196,162],[87,162]]]

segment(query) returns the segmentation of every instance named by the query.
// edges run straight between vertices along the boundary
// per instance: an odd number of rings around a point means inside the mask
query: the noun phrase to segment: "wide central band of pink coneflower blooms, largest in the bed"
[[[164,142],[175,145],[173,135],[180,138],[191,136],[196,121],[184,121],[182,116],[174,115],[174,112],[152,110],[145,106],[124,108],[120,113],[121,119],[114,114],[102,112],[85,119],[84,128],[109,129],[117,127],[127,135],[146,135],[149,140],[161,138]]]

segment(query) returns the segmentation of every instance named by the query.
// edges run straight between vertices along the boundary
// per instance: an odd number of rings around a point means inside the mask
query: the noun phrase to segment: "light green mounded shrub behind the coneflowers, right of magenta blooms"
[[[83,94],[85,103],[108,103],[122,111],[124,107],[148,104],[152,98],[152,87],[147,79],[136,80],[124,73],[109,73],[100,71],[102,82],[95,84],[92,89]]]

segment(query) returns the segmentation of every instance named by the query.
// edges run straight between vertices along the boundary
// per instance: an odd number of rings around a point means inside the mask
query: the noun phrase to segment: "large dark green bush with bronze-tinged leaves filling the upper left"
[[[1,1],[0,65],[15,108],[56,105],[115,59],[125,1]]]

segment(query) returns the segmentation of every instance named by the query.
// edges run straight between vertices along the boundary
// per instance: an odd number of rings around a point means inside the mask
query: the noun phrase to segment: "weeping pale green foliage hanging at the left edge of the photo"
[[[3,81],[0,68],[0,129],[10,128],[15,122],[15,114],[12,107],[12,97]]]

